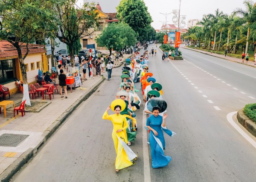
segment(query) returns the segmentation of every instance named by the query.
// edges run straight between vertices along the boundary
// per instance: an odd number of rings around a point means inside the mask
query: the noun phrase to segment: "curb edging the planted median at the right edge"
[[[237,112],[236,118],[238,122],[252,134],[254,137],[256,137],[256,123],[253,122],[251,119],[249,119],[247,116],[244,114],[244,110],[240,109]]]

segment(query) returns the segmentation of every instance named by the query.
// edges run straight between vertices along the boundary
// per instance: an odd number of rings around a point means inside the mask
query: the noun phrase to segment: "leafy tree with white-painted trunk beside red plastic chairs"
[[[23,80],[23,100],[29,100],[28,82],[24,60],[29,54],[29,43],[54,37],[57,30],[52,6],[58,1],[42,0],[1,0],[0,1],[0,40],[7,40],[16,49]],[[21,49],[26,46],[26,53]]]

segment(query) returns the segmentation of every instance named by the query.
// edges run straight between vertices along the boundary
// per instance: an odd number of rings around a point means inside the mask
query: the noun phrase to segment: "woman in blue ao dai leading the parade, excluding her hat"
[[[163,131],[165,131],[170,137],[175,135],[175,133],[165,127],[167,114],[164,114],[162,117],[159,115],[159,112],[159,108],[153,108],[153,115],[148,117],[146,126],[151,130],[149,133],[149,142],[151,148],[152,168],[164,167],[172,160],[170,156],[165,156],[163,152],[165,150]]]

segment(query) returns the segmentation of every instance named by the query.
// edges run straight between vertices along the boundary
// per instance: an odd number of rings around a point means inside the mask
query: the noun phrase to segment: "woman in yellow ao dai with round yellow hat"
[[[115,169],[118,172],[120,169],[127,168],[135,164],[134,160],[137,159],[137,155],[126,145],[127,134],[126,128],[128,124],[125,116],[120,114],[125,108],[125,102],[123,100],[114,100],[110,106],[108,106],[102,119],[111,120],[113,123],[112,139],[116,149],[116,162]],[[115,114],[108,115],[108,111],[112,109]],[[129,150],[127,150],[129,149]]]

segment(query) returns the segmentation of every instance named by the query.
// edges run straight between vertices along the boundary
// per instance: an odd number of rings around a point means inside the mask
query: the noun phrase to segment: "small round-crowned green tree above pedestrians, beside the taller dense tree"
[[[112,48],[119,51],[125,46],[135,45],[136,41],[135,31],[125,23],[111,23],[96,38],[97,44],[107,47],[110,54]]]

